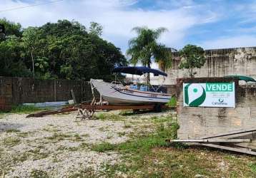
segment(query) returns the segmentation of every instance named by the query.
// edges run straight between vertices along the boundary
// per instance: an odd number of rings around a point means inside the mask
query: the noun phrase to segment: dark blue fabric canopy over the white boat
[[[146,68],[146,67],[132,67],[132,66],[126,66],[126,67],[117,67],[112,70],[112,73],[129,73],[133,75],[143,75],[144,73],[153,73],[155,76],[163,75],[167,76],[167,73],[163,73],[160,70],[156,70],[153,68]]]

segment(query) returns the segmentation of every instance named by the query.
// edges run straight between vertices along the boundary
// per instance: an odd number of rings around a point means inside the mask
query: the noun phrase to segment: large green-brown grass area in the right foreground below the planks
[[[256,159],[227,156],[214,150],[169,145],[165,139],[177,138],[179,125],[171,118],[152,118],[154,132],[133,135],[131,140],[116,145],[98,145],[96,151],[114,150],[122,154],[122,162],[103,164],[106,177],[255,177]],[[159,120],[160,119],[160,120]],[[157,122],[154,122],[157,120]],[[142,130],[143,131],[143,130]],[[174,146],[174,147],[173,147]],[[248,164],[248,159],[253,161]],[[220,166],[225,162],[225,166]],[[225,168],[227,167],[227,168]],[[117,174],[118,173],[118,174]]]

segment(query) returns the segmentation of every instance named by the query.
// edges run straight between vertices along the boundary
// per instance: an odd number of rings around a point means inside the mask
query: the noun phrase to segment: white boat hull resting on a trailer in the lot
[[[157,103],[164,104],[168,103],[172,97],[172,95],[168,95],[166,93],[134,90],[129,86],[116,83],[107,83],[103,80],[91,79],[90,83],[92,88],[95,88],[99,92],[101,99],[107,101],[109,105],[148,105]]]

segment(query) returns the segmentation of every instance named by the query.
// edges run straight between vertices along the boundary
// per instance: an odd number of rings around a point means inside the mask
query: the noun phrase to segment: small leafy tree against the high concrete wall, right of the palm
[[[179,51],[179,56],[182,58],[179,63],[179,68],[187,68],[189,70],[189,76],[195,77],[197,72],[194,72],[195,68],[201,68],[204,66],[206,58],[205,51],[200,46],[186,45]]]

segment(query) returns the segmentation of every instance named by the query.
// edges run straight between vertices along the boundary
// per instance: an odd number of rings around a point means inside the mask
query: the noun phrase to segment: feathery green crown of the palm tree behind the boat
[[[150,68],[154,60],[159,64],[161,70],[170,67],[171,55],[169,50],[163,44],[157,43],[161,34],[167,31],[167,28],[134,27],[132,31],[137,33],[137,37],[129,41],[127,56],[130,56],[130,63],[135,66],[140,62],[143,66]]]

